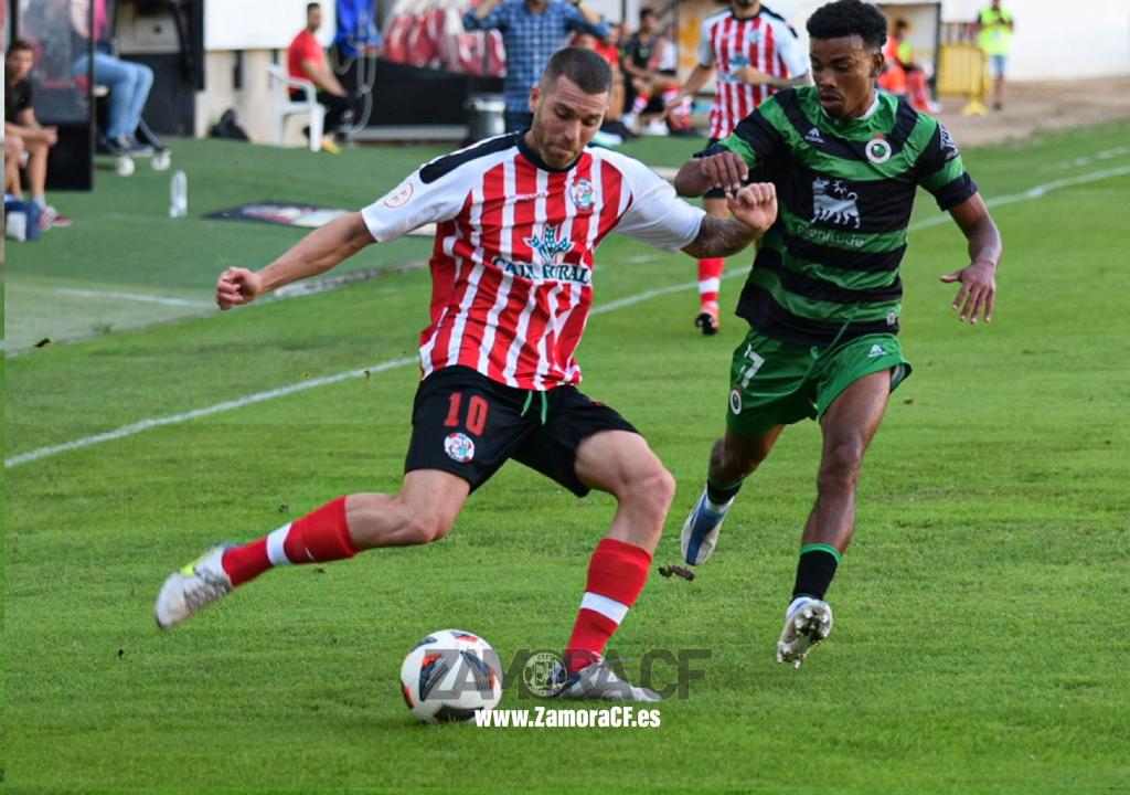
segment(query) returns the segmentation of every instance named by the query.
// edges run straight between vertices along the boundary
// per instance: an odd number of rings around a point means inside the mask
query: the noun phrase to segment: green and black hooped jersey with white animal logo
[[[777,190],[777,221],[738,316],[797,345],[897,332],[898,266],[918,185],[944,210],[977,190],[946,128],[884,93],[867,115],[837,120],[814,86],[779,92],[706,153],[716,147]]]

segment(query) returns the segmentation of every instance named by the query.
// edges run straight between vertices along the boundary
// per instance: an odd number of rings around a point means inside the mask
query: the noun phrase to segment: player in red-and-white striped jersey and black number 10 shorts
[[[216,547],[173,572],[156,604],[173,627],[278,565],[333,561],[446,535],[469,493],[515,459],[583,496],[616,496],[565,647],[564,698],[654,700],[602,662],[643,589],[675,492],[671,475],[619,414],[576,389],[574,352],[592,305],[593,252],[614,230],[693,257],[739,251],[776,217],[755,184],[716,219],[676,198],[642,163],[585,148],[611,72],[590,50],[556,53],[530,103],[533,126],[424,165],[360,213],[299,241],[260,271],[225,270],[221,309],[323,273],[373,242],[436,223],[423,380],[397,494],[338,498],[258,541]]]

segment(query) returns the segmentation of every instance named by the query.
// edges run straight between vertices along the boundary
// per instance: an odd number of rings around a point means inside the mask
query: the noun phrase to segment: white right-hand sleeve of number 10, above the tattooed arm
[[[629,157],[615,165],[624,174],[632,204],[620,216],[616,231],[654,245],[678,251],[698,236],[706,214],[675,195],[675,189],[643,163]]]

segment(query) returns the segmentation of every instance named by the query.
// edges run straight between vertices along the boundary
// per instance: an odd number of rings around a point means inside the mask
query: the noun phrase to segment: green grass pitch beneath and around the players
[[[1130,788],[1128,135],[965,153],[988,198],[1012,199],[993,210],[1006,257],[988,328],[958,323],[937,280],[966,261],[956,227],[912,233],[902,338],[915,372],[864,465],[835,631],[800,671],[773,648],[814,496],[812,423],[747,484],[699,577],[653,577],[616,637],[629,673],[649,649],[711,654],[657,729],[423,727],[405,709],[400,660],[431,630],[481,633],[504,659],[567,637],[612,502],[514,464],[438,544],[270,572],[158,632],[157,588],[207,544],[395,489],[417,378],[399,366],[7,469],[6,790]],[[678,165],[692,148],[629,152]],[[435,154],[314,161],[184,141],[175,166],[193,214],[266,198],[356,207]],[[1114,173],[1026,193],[1099,172]],[[207,301],[219,269],[261,266],[301,234],[169,221],[166,191],[167,174],[99,175],[95,193],[59,197],[72,228],[9,247],[7,458],[415,351],[423,271],[225,314],[59,293]],[[936,215],[921,196],[916,219]],[[427,251],[376,245],[348,267]],[[693,279],[686,257],[614,236],[598,308]],[[739,284],[724,283],[725,305]],[[742,330],[728,318],[697,336],[695,309],[693,288],[615,305],[579,353],[585,391],[679,482],[657,564],[678,558]],[[85,342],[28,347],[46,337]],[[511,688],[502,706],[532,705]]]

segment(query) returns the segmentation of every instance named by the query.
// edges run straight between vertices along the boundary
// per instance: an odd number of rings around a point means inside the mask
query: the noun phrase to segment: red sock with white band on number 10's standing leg
[[[573,634],[565,647],[572,674],[596,662],[647,581],[651,555],[623,541],[605,538],[589,562],[589,581]]]

